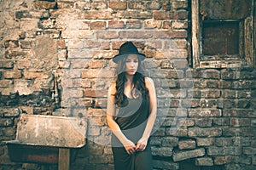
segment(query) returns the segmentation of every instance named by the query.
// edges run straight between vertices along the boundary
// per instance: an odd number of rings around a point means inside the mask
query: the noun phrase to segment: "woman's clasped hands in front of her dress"
[[[136,151],[143,151],[146,149],[148,139],[139,139],[137,144],[134,144],[131,140],[127,140],[124,144],[126,152],[131,155]]]

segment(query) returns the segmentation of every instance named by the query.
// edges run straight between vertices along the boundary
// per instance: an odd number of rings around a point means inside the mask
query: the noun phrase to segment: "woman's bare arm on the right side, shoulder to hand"
[[[139,150],[139,151],[145,150],[148,144],[148,138],[150,137],[150,133],[152,132],[152,129],[154,127],[154,122],[155,122],[156,112],[157,112],[157,99],[156,99],[156,93],[154,88],[154,82],[151,78],[146,77],[145,85],[146,85],[146,88],[148,88],[148,95],[149,95],[149,116],[148,116],[148,122],[145,127],[143,136],[141,139],[139,139],[136,145],[136,150]]]

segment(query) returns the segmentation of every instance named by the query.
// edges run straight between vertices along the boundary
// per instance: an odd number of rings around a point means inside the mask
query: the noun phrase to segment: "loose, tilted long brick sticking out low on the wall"
[[[186,150],[186,151],[177,151],[173,154],[173,161],[183,161],[186,159],[191,159],[199,156],[205,156],[206,151],[203,148],[196,150]]]

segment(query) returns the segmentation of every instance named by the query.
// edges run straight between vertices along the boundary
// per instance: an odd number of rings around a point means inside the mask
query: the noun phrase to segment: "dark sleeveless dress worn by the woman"
[[[134,144],[143,136],[149,116],[149,101],[143,97],[137,99],[128,99],[128,105],[117,107],[117,116],[114,117],[115,122],[119,125],[127,139]],[[115,170],[151,170],[152,153],[148,144],[145,150],[137,151],[129,155],[119,139],[112,135],[112,150]]]

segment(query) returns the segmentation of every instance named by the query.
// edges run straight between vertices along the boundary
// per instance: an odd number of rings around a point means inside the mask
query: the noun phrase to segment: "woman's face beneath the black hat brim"
[[[137,54],[129,54],[125,59],[125,71],[127,75],[134,75],[138,67]]]

